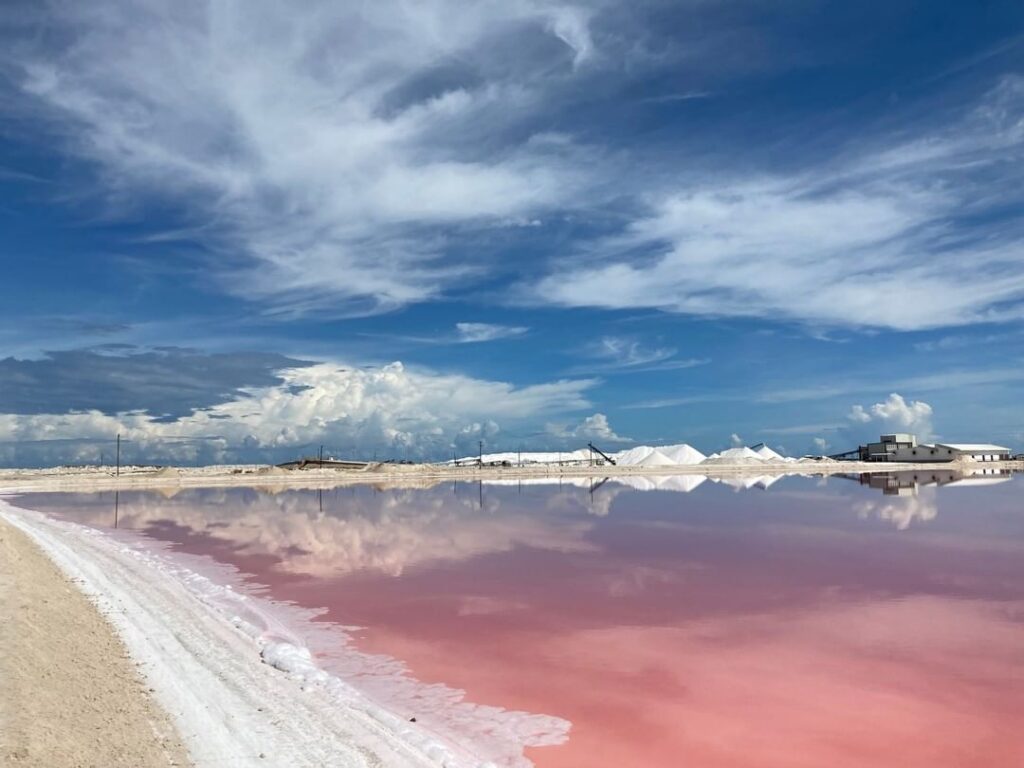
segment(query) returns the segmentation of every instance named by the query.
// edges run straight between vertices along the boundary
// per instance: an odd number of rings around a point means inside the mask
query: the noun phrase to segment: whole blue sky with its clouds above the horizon
[[[0,35],[0,463],[1024,449],[1020,3],[10,2]]]

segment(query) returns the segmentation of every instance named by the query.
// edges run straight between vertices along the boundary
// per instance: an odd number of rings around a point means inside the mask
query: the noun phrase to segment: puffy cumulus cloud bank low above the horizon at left
[[[0,461],[57,456],[97,461],[120,432],[138,458],[229,461],[294,457],[324,443],[364,458],[442,458],[463,442],[494,435],[499,425],[526,428],[535,420],[590,406],[592,379],[516,387],[505,382],[411,370],[322,362],[279,372],[281,383],[168,421],[141,412],[98,410],[0,414]],[[61,442],[61,441],[72,442]],[[43,441],[43,442],[39,442]],[[24,443],[17,445],[14,443]],[[132,454],[129,453],[129,459]],[[23,460],[24,461],[24,460]]]

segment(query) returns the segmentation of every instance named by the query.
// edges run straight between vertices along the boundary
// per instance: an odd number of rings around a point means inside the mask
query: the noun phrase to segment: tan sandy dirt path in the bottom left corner
[[[164,768],[189,761],[99,611],[0,520],[0,764]]]

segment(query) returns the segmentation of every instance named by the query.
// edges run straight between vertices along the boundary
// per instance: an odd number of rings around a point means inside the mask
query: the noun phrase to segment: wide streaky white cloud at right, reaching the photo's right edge
[[[530,287],[565,306],[652,307],[815,326],[918,330],[1022,316],[1012,208],[1024,150],[1024,79],[927,140],[791,176],[721,174],[646,196],[624,233]],[[1017,169],[1017,170],[1013,170]],[[1009,176],[1007,175],[1009,174]]]

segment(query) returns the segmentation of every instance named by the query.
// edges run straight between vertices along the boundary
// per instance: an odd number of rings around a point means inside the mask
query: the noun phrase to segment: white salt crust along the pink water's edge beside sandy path
[[[230,583],[133,544],[130,535],[2,500],[0,518],[32,538],[110,618],[197,768],[515,768],[529,765],[524,748],[565,738],[568,724],[557,718],[468,705],[461,713],[467,729],[473,733],[479,719],[478,733],[490,740],[447,742],[321,670],[265,601]],[[421,687],[423,708],[431,707],[431,691],[459,695]]]

